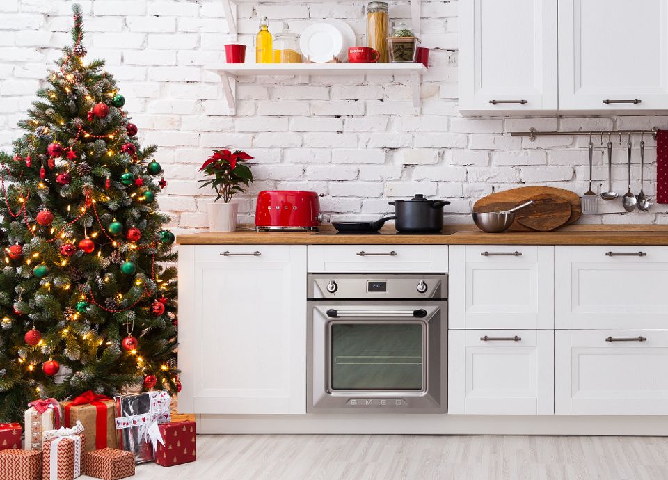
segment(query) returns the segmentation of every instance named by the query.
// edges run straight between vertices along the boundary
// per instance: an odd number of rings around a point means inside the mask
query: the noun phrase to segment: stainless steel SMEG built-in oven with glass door
[[[308,413],[445,413],[447,275],[308,275]]]

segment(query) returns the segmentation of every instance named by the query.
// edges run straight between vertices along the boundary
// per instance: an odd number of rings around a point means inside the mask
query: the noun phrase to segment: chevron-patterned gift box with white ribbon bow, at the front
[[[79,477],[85,444],[84,426],[79,421],[71,429],[61,426],[58,430],[45,431],[42,442],[42,479],[73,480]]]

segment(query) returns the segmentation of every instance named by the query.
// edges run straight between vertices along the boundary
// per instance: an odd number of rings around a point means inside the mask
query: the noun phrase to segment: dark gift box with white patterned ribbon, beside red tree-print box
[[[113,400],[118,448],[132,452],[136,463],[153,461],[158,443],[164,445],[158,425],[170,421],[168,392],[122,395]]]

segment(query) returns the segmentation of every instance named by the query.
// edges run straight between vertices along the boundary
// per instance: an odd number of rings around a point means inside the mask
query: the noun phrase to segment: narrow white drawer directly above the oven
[[[309,273],[447,272],[447,245],[310,245]]]

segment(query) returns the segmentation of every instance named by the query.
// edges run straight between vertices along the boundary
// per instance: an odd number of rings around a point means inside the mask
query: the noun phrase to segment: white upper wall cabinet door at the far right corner
[[[559,110],[631,113],[667,104],[665,0],[559,0]]]

